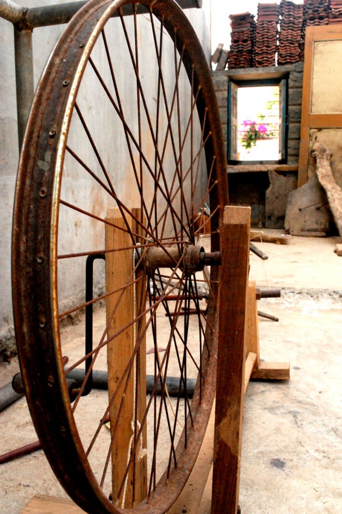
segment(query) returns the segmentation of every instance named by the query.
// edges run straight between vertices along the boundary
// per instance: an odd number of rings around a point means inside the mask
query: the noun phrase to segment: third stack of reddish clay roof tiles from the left
[[[294,4],[289,0],[281,0],[278,65],[293,64],[301,60],[303,49],[302,25],[303,6]]]

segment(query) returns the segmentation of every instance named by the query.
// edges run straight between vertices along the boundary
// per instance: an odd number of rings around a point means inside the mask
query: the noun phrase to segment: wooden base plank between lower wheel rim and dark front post
[[[202,446],[198,454],[195,466],[174,505],[167,514],[198,514],[203,491],[208,486],[213,465],[214,452],[214,427],[215,427],[215,402],[208,421],[208,426],[203,438]],[[211,482],[210,482],[211,490]],[[208,514],[210,511],[208,512]]]

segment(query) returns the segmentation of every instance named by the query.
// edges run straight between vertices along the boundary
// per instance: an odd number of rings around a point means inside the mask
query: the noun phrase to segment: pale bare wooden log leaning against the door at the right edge
[[[311,150],[316,158],[316,173],[320,185],[325,189],[331,212],[340,237],[342,237],[342,189],[336,184],[331,171],[331,153],[327,146],[316,141]]]

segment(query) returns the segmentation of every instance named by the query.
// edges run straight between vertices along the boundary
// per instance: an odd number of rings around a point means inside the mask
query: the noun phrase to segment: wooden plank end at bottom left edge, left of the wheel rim
[[[20,514],[85,514],[69,498],[35,494]]]

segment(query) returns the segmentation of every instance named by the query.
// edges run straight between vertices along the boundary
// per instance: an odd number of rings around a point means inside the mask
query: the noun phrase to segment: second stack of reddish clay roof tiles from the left
[[[275,65],[278,23],[278,4],[258,4],[254,61],[256,67]]]

